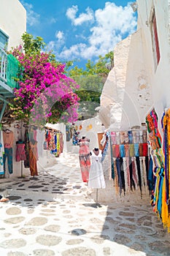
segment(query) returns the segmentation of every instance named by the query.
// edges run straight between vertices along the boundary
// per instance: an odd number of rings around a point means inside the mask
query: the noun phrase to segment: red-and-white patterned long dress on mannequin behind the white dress
[[[89,170],[90,170],[90,140],[85,136],[79,140],[79,159],[80,159],[80,169],[82,173],[82,181],[88,182]]]

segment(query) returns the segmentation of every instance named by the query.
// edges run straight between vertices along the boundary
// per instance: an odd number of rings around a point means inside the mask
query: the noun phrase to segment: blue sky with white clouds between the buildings
[[[27,32],[42,37],[58,61],[84,67],[136,31],[132,1],[20,0],[27,11]]]

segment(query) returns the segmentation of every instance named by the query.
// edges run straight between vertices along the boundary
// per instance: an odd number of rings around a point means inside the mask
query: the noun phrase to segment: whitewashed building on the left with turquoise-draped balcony
[[[26,10],[18,0],[1,0],[0,1],[0,123],[4,114],[4,109],[10,98],[14,97],[13,90],[18,88],[15,81],[18,73],[18,61],[7,54],[5,50],[20,45],[21,36],[26,32]],[[6,126],[8,124],[5,124]],[[23,163],[15,161],[16,140],[23,135],[23,127],[20,129],[12,124],[9,129],[14,132],[15,140],[13,146],[13,176],[21,176],[23,173]],[[28,169],[27,169],[28,172]],[[7,175],[6,175],[7,174]],[[5,178],[9,178],[6,172]],[[2,177],[3,178],[3,175]],[[1,180],[3,182],[3,179]]]

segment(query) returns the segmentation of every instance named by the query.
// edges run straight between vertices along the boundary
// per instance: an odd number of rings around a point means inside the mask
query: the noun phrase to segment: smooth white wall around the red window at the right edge
[[[144,59],[147,63],[147,76],[152,85],[153,105],[158,113],[158,125],[161,132],[163,110],[170,108],[170,1],[138,0],[137,3],[139,6],[138,26],[142,29],[142,48]],[[156,69],[152,55],[152,37],[150,34],[150,21],[153,6],[155,7],[158,41],[161,53],[161,59]]]

